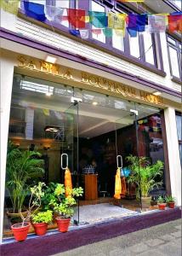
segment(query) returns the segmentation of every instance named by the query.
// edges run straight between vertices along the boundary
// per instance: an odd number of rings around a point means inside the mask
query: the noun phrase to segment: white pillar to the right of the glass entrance
[[[179,157],[179,141],[175,118],[175,109],[167,108],[164,110],[166,123],[166,135],[168,143],[168,162],[171,181],[171,192],[176,198],[176,204],[181,206],[181,165]]]

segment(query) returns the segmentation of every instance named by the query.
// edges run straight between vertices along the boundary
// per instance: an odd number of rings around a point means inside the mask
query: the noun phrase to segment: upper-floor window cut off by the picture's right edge
[[[181,79],[181,44],[178,40],[167,37],[168,40],[168,59],[171,75],[174,79]]]

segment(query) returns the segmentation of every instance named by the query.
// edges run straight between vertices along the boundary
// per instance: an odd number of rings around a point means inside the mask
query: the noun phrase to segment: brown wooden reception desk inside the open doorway
[[[97,174],[85,174],[85,200],[96,200],[98,198],[97,191]]]

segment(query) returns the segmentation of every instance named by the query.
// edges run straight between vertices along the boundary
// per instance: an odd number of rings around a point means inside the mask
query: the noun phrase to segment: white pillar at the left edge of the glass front
[[[0,243],[3,236],[3,203],[6,174],[6,153],[9,133],[9,111],[14,76],[14,62],[0,60]]]

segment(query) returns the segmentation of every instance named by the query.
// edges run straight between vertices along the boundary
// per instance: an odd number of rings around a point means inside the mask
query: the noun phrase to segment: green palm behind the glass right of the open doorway
[[[151,165],[146,157],[137,157],[131,154],[126,159],[130,163],[132,171],[128,182],[136,183],[137,198],[139,198],[139,190],[142,197],[147,197],[152,189],[162,185],[163,162],[161,160],[157,160],[155,164]]]

